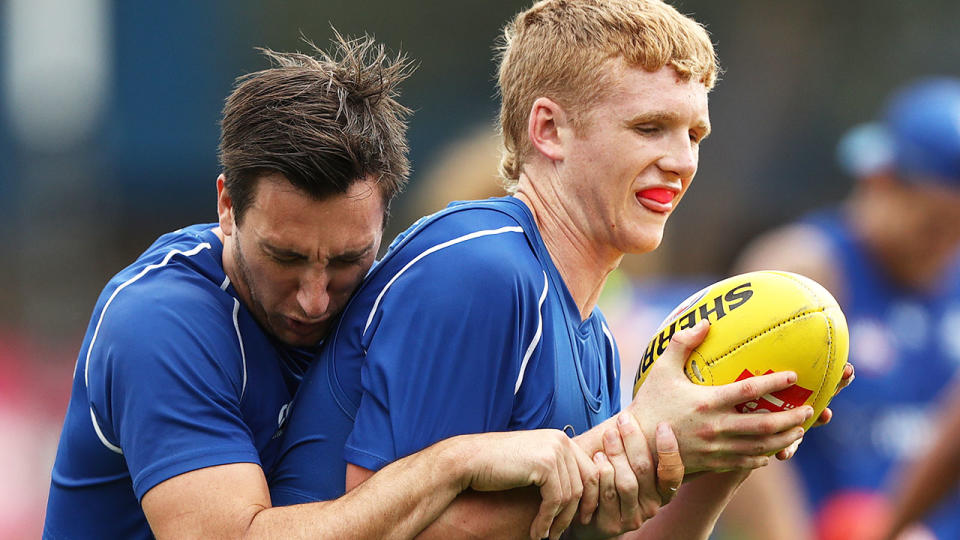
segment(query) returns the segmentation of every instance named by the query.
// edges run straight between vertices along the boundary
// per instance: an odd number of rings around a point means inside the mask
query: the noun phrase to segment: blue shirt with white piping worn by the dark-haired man
[[[272,466],[311,354],[260,329],[224,274],[213,227],[160,237],[97,300],[44,538],[150,538],[140,498],[155,485],[214,465]]]

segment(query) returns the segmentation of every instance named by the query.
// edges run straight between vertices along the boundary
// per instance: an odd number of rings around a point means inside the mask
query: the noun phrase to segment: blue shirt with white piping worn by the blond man
[[[270,478],[274,504],[331,499],[465,433],[580,434],[619,410],[607,324],[579,310],[527,207],[455,203],[391,245],[308,371]]]

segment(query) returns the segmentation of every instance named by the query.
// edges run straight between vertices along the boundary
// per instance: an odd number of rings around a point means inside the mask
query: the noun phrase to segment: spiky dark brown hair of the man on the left
[[[239,224],[264,174],[279,172],[322,199],[369,176],[384,207],[410,174],[406,119],[397,86],[413,68],[373,38],[344,38],[315,55],[260,49],[276,65],[237,78],[223,107],[220,163]]]

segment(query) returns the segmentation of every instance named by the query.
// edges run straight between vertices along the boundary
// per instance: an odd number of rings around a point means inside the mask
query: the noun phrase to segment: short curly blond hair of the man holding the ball
[[[507,23],[498,86],[508,190],[533,149],[527,120],[534,100],[549,96],[577,127],[577,113],[609,86],[606,66],[616,58],[651,72],[669,65],[708,89],[719,70],[706,29],[660,0],[543,0]]]

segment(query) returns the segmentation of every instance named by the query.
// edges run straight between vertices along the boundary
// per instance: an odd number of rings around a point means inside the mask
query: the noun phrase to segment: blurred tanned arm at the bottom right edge
[[[960,483],[960,377],[943,403],[932,446],[895,472],[893,512],[884,540],[893,540],[922,520]]]

